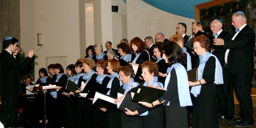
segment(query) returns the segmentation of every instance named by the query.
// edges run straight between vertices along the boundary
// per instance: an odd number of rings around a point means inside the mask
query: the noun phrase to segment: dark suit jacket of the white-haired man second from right
[[[217,38],[229,39],[230,35],[228,33],[226,33],[225,31],[221,31],[220,35],[218,35]],[[214,49],[212,54],[214,54],[218,58],[220,65],[223,67],[226,49],[224,49],[223,45],[217,46],[217,45],[211,44],[211,46]]]

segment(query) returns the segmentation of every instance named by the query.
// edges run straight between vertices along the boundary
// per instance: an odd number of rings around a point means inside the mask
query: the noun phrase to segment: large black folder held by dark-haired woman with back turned
[[[134,101],[143,101],[143,102],[153,102],[162,97],[166,92],[165,90],[156,89],[149,86],[139,85],[136,87],[137,90],[134,92],[132,100]]]

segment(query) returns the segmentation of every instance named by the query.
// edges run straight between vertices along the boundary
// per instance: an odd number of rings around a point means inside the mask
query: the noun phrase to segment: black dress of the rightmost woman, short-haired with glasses
[[[199,60],[196,61],[198,67]],[[206,84],[201,86],[200,94],[194,100],[193,127],[219,127],[216,104],[216,85],[214,84],[215,58],[210,57],[203,70],[203,79]]]

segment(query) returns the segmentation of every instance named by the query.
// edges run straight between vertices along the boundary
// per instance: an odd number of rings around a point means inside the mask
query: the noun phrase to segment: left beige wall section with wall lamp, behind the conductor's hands
[[[67,64],[75,63],[80,57],[78,0],[34,0],[20,3],[21,38],[24,39],[21,46],[30,47],[34,44],[34,49],[38,50],[35,53],[39,57],[36,60],[39,65],[35,66],[35,74],[38,74],[39,68],[47,67],[47,57],[67,57]],[[41,49],[37,46],[37,33],[42,33]],[[38,78],[38,75],[35,77]]]

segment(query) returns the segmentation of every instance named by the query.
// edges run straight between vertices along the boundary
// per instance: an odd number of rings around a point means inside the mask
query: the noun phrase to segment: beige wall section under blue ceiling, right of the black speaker
[[[156,9],[143,1],[129,0],[127,5],[127,36],[132,39],[135,36],[142,40],[146,36],[155,38],[155,34],[162,32],[165,38],[175,34],[175,28],[179,22],[187,24],[187,34],[191,35],[191,23],[194,19],[180,17],[162,10]]]

